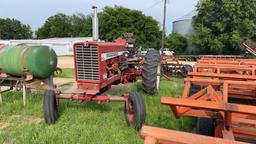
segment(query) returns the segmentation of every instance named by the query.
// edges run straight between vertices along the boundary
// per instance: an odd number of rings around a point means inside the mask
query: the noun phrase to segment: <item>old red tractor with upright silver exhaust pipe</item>
[[[143,76],[143,89],[153,94],[159,87],[160,55],[158,51],[149,51],[145,60],[137,57],[129,58],[124,39],[114,42],[98,41],[97,8],[93,7],[93,39],[91,42],[74,45],[74,64],[77,89],[63,93],[54,88],[46,91],[44,96],[44,117],[48,124],[58,118],[57,99],[71,99],[83,102],[124,102],[125,119],[128,125],[140,128],[145,121],[146,108],[140,93],[124,94],[123,97],[104,94],[112,85],[135,81]],[[144,63],[144,64],[143,64]],[[142,70],[143,69],[143,70]]]

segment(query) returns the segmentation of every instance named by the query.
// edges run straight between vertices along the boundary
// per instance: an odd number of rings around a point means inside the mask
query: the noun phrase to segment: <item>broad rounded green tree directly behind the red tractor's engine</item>
[[[105,7],[99,14],[100,38],[113,41],[124,33],[134,33],[136,44],[160,47],[161,31],[158,22],[141,11],[115,6]]]

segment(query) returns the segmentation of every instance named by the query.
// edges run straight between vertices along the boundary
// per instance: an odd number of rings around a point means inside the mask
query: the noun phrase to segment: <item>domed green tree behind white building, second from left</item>
[[[71,37],[71,18],[62,13],[49,17],[44,25],[36,31],[36,36],[39,39],[51,37]]]

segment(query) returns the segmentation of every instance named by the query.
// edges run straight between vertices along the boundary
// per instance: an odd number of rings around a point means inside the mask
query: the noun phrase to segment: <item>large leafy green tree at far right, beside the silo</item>
[[[203,0],[197,11],[191,41],[201,53],[235,54],[242,37],[256,40],[255,0]]]

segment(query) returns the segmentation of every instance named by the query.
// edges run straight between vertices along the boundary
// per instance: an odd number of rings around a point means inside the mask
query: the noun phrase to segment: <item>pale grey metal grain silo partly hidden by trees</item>
[[[190,13],[178,18],[173,22],[173,32],[181,34],[182,36],[189,36],[195,32],[193,24],[193,16],[197,15],[197,11],[193,10]],[[191,52],[195,50],[195,47],[189,42],[187,51]]]

